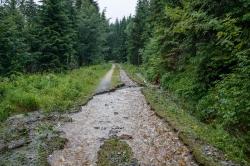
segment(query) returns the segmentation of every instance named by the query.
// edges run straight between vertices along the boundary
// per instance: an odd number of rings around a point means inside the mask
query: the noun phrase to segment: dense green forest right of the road
[[[111,24],[112,55],[249,143],[249,9],[248,0],[139,0],[133,18]]]

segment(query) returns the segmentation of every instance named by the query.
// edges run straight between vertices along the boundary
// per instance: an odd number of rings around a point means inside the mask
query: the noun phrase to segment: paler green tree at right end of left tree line
[[[82,0],[77,21],[80,66],[103,61],[103,44],[106,42],[106,35],[103,35],[106,33],[103,29],[103,20],[94,1]]]

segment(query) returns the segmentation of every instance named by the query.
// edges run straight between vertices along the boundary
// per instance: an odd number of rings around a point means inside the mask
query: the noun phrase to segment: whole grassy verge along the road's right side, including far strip
[[[142,82],[138,76],[138,72],[142,71],[140,68],[128,64],[123,65],[123,67],[134,81]],[[221,160],[228,159],[240,165],[250,164],[249,158],[245,154],[248,144],[232,136],[222,126],[199,121],[190,114],[177,95],[162,88],[148,87],[145,84],[143,94],[156,114],[178,132],[180,139],[190,147],[200,164],[206,166],[222,165]],[[217,148],[217,150],[208,150],[207,147],[210,146]]]

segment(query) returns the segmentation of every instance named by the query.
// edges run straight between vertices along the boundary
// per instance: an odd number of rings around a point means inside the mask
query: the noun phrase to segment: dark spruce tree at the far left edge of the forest
[[[7,1],[1,8],[0,74],[24,71],[30,56],[25,43],[24,17],[15,0]]]

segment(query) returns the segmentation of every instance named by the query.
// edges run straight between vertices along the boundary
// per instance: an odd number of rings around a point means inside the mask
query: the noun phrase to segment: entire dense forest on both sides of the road
[[[0,78],[130,63],[249,145],[249,9],[249,0],[138,0],[134,16],[110,23],[94,0],[1,1]]]

